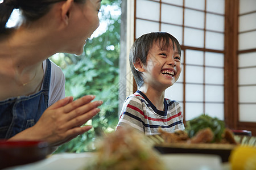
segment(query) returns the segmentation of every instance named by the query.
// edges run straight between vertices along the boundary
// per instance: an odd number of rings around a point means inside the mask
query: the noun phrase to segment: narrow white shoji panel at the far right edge
[[[256,122],[256,1],[240,0],[238,18],[239,121]]]

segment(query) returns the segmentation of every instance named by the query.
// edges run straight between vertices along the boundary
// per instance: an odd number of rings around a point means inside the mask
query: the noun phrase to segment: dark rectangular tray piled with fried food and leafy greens
[[[256,146],[256,138],[234,135],[217,118],[201,115],[187,122],[184,131],[167,133],[159,129],[159,135],[148,136],[161,154],[211,154],[228,162],[232,150],[238,145]]]

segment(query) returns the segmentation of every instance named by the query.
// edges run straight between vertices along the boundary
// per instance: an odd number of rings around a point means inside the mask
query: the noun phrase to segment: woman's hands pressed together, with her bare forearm
[[[58,146],[77,135],[90,130],[92,126],[83,126],[95,116],[102,101],[93,101],[95,96],[88,95],[73,101],[73,97],[65,97],[47,108],[39,121],[31,128],[15,135],[11,140],[43,140],[51,146]]]

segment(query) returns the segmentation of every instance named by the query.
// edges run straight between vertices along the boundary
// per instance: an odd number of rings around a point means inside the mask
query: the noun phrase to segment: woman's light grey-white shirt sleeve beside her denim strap
[[[43,61],[43,70],[46,72],[46,60]],[[43,87],[43,86],[42,86]],[[51,61],[51,81],[49,86],[48,106],[65,97],[65,75],[61,68]]]

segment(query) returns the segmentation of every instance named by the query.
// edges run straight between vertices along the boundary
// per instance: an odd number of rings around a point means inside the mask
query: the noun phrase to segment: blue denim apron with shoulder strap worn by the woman
[[[51,62],[47,59],[43,89],[30,96],[0,101],[0,139],[9,139],[35,123],[48,107]]]

